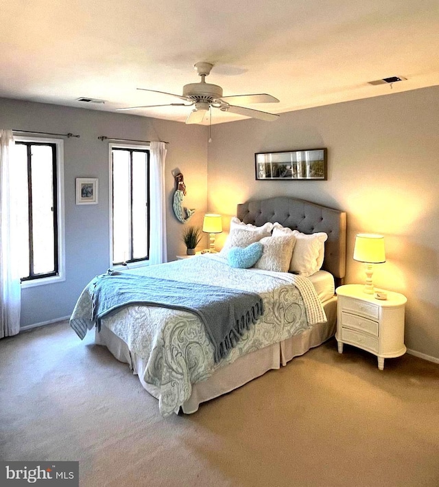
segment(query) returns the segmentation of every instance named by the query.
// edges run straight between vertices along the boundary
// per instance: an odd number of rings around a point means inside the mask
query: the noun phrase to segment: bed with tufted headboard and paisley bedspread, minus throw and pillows
[[[346,214],[307,201],[277,197],[238,205],[237,218],[239,225],[246,227],[244,230],[251,227],[259,231],[276,223],[277,231],[292,229],[304,235],[324,232],[327,240],[322,269],[302,277],[230,267],[226,254],[205,254],[128,271],[165,280],[175,280],[178,274],[178,279],[187,283],[200,281],[207,285],[210,280],[219,287],[257,293],[265,306],[265,313],[242,332],[241,339],[219,361],[214,359],[214,348],[199,317],[187,310],[134,304],[100,321],[95,343],[106,346],[116,359],[130,365],[147,392],[158,399],[163,416],[179,411],[191,414],[200,403],[286,365],[335,333],[334,289],[342,284],[345,273]],[[271,233],[274,236],[274,229]],[[270,236],[264,238],[270,242]],[[92,283],[78,299],[71,324],[78,316],[91,313]],[[312,295],[312,299],[308,302],[305,295]]]

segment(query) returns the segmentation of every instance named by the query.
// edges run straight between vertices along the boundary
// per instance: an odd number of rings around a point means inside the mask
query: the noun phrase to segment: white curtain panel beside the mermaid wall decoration
[[[150,146],[150,264],[167,262],[165,205],[165,142]]]

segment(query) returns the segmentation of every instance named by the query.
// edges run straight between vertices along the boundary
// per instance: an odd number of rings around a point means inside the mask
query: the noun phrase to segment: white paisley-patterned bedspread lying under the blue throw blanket
[[[283,341],[326,321],[318,295],[307,278],[257,269],[233,269],[223,258],[212,254],[128,272],[252,291],[261,295],[265,307],[263,317],[244,333],[226,359],[217,364],[204,326],[192,313],[156,306],[129,306],[102,320],[132,352],[146,359],[143,378],[159,389],[159,409],[163,416],[178,412],[191,395],[191,384],[208,378],[217,368],[242,354]],[[78,300],[72,317],[88,313],[88,308],[91,315],[89,287]]]

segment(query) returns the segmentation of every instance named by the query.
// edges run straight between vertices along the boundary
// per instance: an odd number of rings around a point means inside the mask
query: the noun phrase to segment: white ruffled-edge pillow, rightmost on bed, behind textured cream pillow
[[[302,234],[298,230],[285,228],[279,223],[275,223],[273,236],[279,235],[289,235],[296,238],[292,260],[289,264],[290,272],[308,278],[313,273],[320,271],[324,259],[324,242],[328,239],[327,234],[323,231],[310,235]]]

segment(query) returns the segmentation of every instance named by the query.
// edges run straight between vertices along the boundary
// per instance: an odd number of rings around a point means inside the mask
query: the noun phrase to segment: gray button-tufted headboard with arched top
[[[284,227],[313,234],[324,231],[328,240],[324,244],[325,271],[329,271],[337,284],[342,284],[346,272],[346,213],[300,199],[279,196],[237,205],[237,217],[244,223],[260,227],[267,222],[278,222]]]

